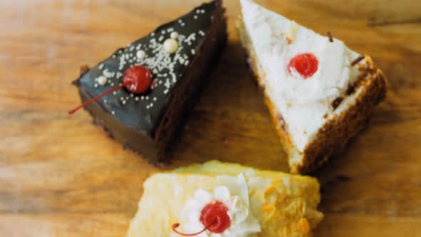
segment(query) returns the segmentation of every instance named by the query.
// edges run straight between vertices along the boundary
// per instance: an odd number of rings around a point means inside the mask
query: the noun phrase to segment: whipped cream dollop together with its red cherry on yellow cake
[[[242,175],[237,177],[245,188]],[[173,232],[181,236],[248,236],[260,232],[260,224],[249,209],[247,188],[240,195],[230,193],[227,186],[218,186],[213,193],[198,189],[181,213],[183,223],[173,223]],[[197,219],[196,219],[197,216]],[[192,218],[193,217],[193,218]],[[183,231],[177,228],[183,228]]]

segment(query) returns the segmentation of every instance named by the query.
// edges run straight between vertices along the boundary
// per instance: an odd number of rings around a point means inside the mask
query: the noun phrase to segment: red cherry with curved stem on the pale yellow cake
[[[203,233],[208,230],[212,233],[223,233],[226,229],[230,227],[231,221],[230,216],[228,216],[228,207],[225,206],[220,201],[213,201],[208,203],[201,211],[201,217],[199,219],[203,226],[203,230],[196,233],[181,233],[176,230],[180,223],[174,223],[171,228],[173,231],[178,233],[181,236],[196,236],[199,233]]]

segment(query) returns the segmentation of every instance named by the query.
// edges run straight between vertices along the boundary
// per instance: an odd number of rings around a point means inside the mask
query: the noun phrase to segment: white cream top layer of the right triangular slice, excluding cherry
[[[288,124],[295,146],[303,151],[327,121],[325,114],[328,118],[334,114],[332,101],[345,94],[348,84],[357,79],[357,67],[350,64],[359,54],[343,41],[330,42],[327,36],[268,11],[253,0],[240,3],[265,91]],[[304,80],[296,71],[291,75],[287,67],[291,59],[305,53],[318,58],[318,71]]]

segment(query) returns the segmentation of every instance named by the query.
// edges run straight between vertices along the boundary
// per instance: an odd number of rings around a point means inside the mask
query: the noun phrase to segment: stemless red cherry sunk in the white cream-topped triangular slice
[[[313,54],[298,54],[288,64],[288,72],[292,74],[291,71],[294,69],[303,76],[303,79],[308,79],[318,71],[318,65],[319,61]]]

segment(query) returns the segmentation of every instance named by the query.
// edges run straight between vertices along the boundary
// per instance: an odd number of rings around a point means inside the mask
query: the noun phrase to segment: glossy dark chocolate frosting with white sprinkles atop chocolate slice
[[[99,106],[107,117],[111,116],[132,131],[153,139],[153,133],[173,90],[183,80],[189,62],[203,44],[213,22],[217,2],[198,6],[190,13],[159,26],[151,34],[134,41],[126,48],[118,49],[108,59],[91,68],[75,81],[83,94],[83,101],[121,84],[124,71],[131,66],[146,66],[153,74],[151,89],[143,94],[132,94],[126,89],[119,89],[98,99],[93,106]],[[178,49],[176,53],[169,54],[163,49],[163,42],[171,38],[173,32],[178,34]],[[143,51],[146,56],[138,58],[142,54],[139,51]],[[97,79],[100,76],[106,77],[106,85],[98,84]],[[86,109],[90,111],[90,108],[93,107],[88,106]],[[95,116],[94,111],[90,112]]]

